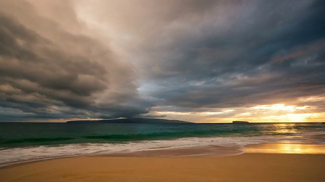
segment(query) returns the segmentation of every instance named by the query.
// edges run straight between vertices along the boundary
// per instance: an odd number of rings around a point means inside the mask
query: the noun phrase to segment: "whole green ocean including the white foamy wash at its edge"
[[[241,154],[252,144],[321,145],[323,137],[310,136],[323,134],[322,123],[0,123],[0,166],[68,156],[207,147],[213,147],[209,152],[214,156],[227,156]]]

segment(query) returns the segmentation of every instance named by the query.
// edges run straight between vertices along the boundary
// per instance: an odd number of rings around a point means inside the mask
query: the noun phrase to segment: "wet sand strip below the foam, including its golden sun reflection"
[[[140,157],[140,158],[220,158],[232,157],[243,154],[299,154],[299,155],[325,155],[325,144],[285,144],[285,143],[262,143],[246,145],[243,148],[206,146],[204,148],[181,148],[181,149],[158,149],[137,152],[111,153],[111,154],[85,154],[58,156],[51,158],[20,161],[0,166],[0,170],[33,164],[49,160],[79,157]]]

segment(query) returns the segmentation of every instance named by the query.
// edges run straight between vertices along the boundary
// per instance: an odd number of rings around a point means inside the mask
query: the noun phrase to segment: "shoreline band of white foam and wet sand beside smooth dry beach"
[[[0,168],[76,156],[223,157],[238,155],[244,152],[317,154],[317,152],[315,153],[315,149],[317,148],[321,148],[321,150],[318,150],[318,154],[323,154],[325,153],[323,146],[325,144],[325,134],[320,129],[283,135],[226,134],[207,137],[175,138],[171,140],[140,140],[118,143],[110,143],[108,141],[107,143],[57,145],[39,144],[29,147],[2,148],[0,149]],[[291,130],[285,130],[283,132],[287,133],[291,132]],[[99,137],[103,138],[104,136],[106,135],[100,135]],[[253,145],[254,150],[251,145]],[[267,145],[269,146],[267,147]],[[270,145],[272,145],[271,148]],[[316,146],[313,147],[312,145]],[[311,147],[314,149],[308,151],[306,150],[306,146],[307,149]],[[258,149],[255,149],[256,147]],[[271,149],[273,149],[273,152]]]

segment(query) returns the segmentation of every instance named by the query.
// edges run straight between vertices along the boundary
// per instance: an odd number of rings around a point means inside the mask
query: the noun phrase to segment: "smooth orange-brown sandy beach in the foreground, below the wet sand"
[[[325,181],[325,155],[72,157],[0,169],[0,181]]]

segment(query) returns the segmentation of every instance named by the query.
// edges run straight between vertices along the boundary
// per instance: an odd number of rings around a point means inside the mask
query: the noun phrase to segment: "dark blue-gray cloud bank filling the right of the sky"
[[[299,105],[299,97],[323,97],[324,8],[322,1],[240,4],[226,31],[211,18],[200,39],[191,32],[184,41],[176,37],[165,50],[171,59],[154,63],[159,72],[145,68],[154,81],[144,89],[166,105],[193,109]]]

